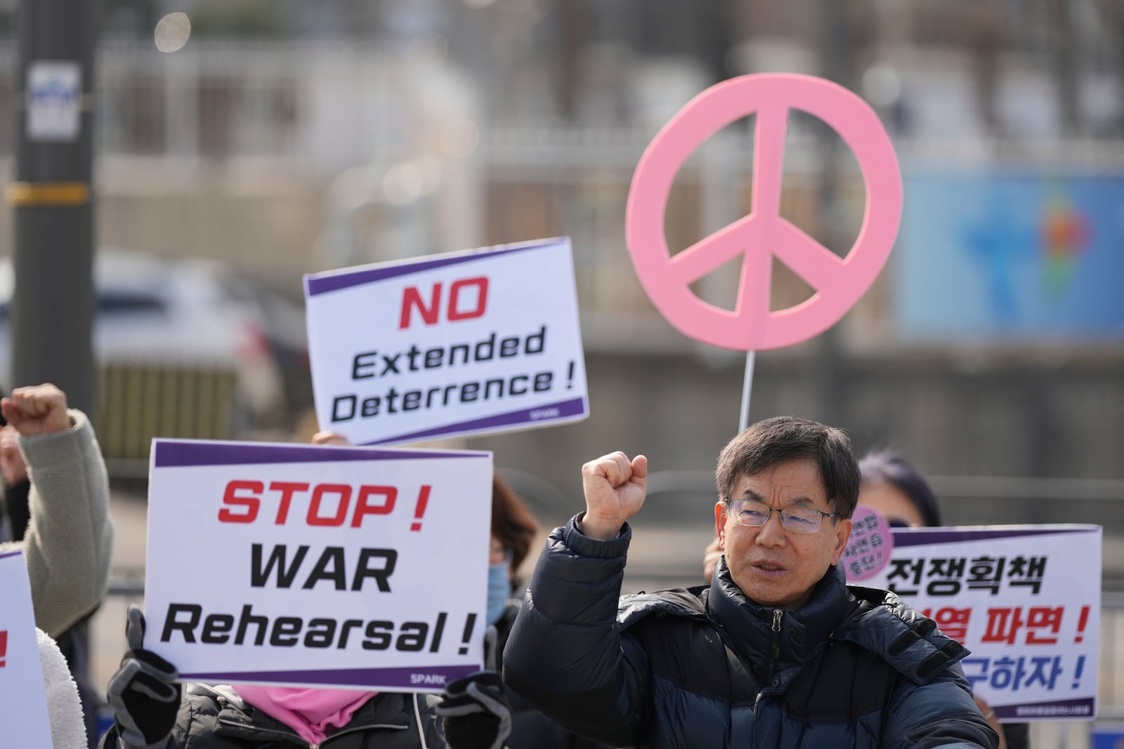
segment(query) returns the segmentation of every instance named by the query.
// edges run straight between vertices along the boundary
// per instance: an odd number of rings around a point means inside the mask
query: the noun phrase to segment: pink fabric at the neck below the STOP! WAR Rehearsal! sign
[[[235,684],[238,695],[300,734],[309,743],[320,743],[329,728],[343,728],[356,710],[378,692],[351,689],[306,689],[283,686]]]

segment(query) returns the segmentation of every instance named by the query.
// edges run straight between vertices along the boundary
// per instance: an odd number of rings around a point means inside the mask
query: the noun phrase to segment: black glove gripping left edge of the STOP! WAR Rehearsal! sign
[[[125,639],[129,650],[121,667],[109,679],[106,698],[117,721],[117,733],[126,749],[163,745],[175,725],[181,689],[175,666],[145,650],[144,614],[129,606]]]

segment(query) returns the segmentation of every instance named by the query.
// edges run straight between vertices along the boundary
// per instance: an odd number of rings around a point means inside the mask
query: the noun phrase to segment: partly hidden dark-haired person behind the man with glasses
[[[941,508],[928,482],[894,450],[878,450],[859,460],[862,484],[859,504],[877,510],[891,528],[928,528],[941,524]],[[976,705],[999,734],[999,749],[1030,749],[1028,723],[1000,723],[986,700]]]

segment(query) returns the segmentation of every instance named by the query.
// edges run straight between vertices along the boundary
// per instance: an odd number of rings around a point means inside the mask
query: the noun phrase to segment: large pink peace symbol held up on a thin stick
[[[859,238],[844,258],[780,214],[790,109],[834,128],[862,171],[867,209]],[[747,115],[755,116],[752,212],[670,256],[663,221],[676,174],[708,137]],[[749,351],[790,346],[835,325],[874,282],[900,219],[897,155],[867,102],[809,75],[743,75],[692,99],[649,144],[628,191],[626,236],[636,274],[669,322],[691,338]],[[695,295],[690,284],[738,255],[742,275],[733,311]],[[810,299],[770,311],[773,256],[815,290]]]

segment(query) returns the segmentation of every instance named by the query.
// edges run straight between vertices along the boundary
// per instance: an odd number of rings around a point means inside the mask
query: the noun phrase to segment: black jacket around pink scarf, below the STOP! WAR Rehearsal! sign
[[[101,749],[120,749],[117,725]],[[444,749],[436,715],[424,694],[383,692],[368,700],[347,725],[318,745],[254,710],[229,687],[192,684],[180,702],[175,728],[162,749]]]

